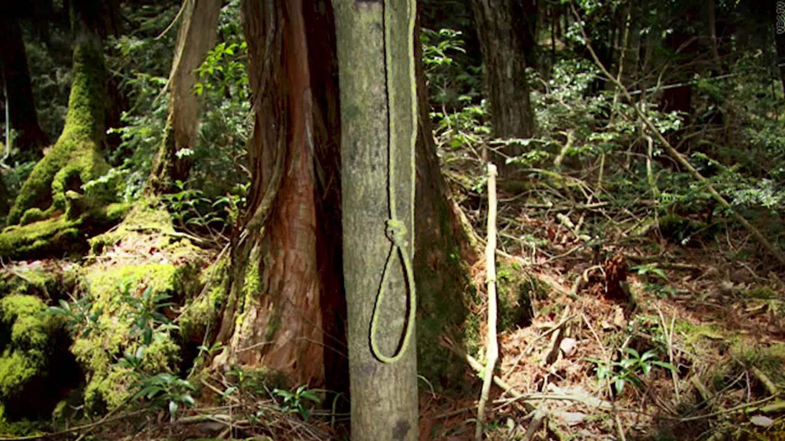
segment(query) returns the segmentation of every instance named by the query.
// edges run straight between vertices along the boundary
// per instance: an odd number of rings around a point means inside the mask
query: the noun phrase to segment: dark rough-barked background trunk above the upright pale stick
[[[491,102],[494,135],[502,138],[528,138],[534,134],[526,78],[528,36],[523,8],[518,0],[472,0],[475,26],[483,53],[487,99]],[[502,151],[520,155],[524,147],[510,144]],[[504,165],[503,159],[500,165]],[[505,169],[502,167],[502,174]]]

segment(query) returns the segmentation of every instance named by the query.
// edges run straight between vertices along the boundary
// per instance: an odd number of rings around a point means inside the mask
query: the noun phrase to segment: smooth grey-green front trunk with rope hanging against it
[[[406,338],[407,326],[415,324],[407,306],[414,286],[406,282],[402,257],[411,256],[413,249],[411,233],[404,233],[414,231],[410,142],[417,123],[411,93],[416,85],[414,66],[406,60],[414,50],[410,20],[416,10],[411,0],[334,4],[352,439],[417,439],[416,339],[411,334]],[[405,226],[405,231],[390,234],[394,245],[385,237],[390,218],[400,221],[396,228]],[[388,256],[392,265],[384,277]],[[381,293],[385,296],[376,305]],[[370,324],[374,319],[375,329]],[[397,361],[382,361],[396,353]]]

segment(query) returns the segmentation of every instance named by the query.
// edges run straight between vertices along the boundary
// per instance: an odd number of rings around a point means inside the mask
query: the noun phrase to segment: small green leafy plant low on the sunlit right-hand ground
[[[597,365],[597,380],[608,380],[613,384],[617,394],[622,393],[627,382],[632,383],[638,388],[643,387],[640,375],[648,377],[654,366],[663,367],[667,370],[676,370],[676,366],[660,361],[657,358],[657,351],[649,349],[641,355],[633,348],[619,349],[621,355],[626,355],[618,362],[605,363],[599,359],[586,358],[586,361]]]

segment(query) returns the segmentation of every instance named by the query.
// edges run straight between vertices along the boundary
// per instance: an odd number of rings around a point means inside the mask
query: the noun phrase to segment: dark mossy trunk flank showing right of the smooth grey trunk
[[[469,282],[466,261],[476,258],[476,250],[441,174],[422,71],[422,46],[415,45],[414,49],[419,114],[414,192],[418,373],[433,385],[455,391],[460,389],[455,385],[465,378],[466,362],[438,342],[445,333],[454,341],[462,341],[462,336],[455,334],[460,333],[467,314],[463,297]]]

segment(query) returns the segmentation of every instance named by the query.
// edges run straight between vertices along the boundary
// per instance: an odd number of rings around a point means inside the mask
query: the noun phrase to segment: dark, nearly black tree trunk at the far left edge
[[[22,29],[12,16],[0,17],[0,65],[8,91],[11,127],[17,132],[13,145],[40,154],[49,146],[49,139],[38,125]]]

